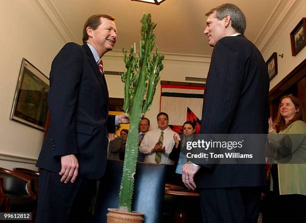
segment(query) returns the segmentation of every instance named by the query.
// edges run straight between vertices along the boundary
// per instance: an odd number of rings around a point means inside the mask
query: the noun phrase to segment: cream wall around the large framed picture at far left
[[[36,1],[1,1],[0,27],[0,166],[34,169],[43,132],[9,120],[21,60],[24,57],[48,76],[64,40]]]

